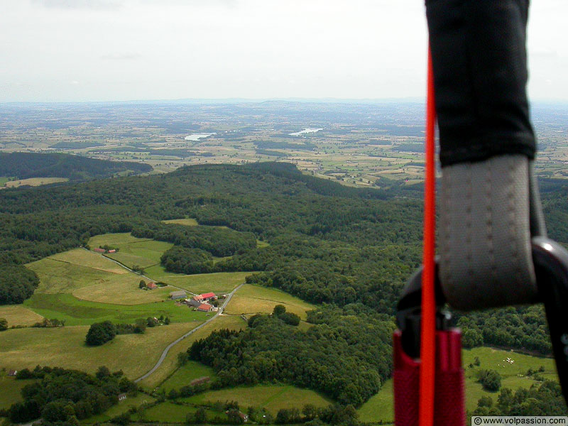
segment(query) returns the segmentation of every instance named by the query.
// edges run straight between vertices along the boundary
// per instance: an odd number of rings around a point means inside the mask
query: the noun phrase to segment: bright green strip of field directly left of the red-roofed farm
[[[66,325],[89,325],[106,320],[131,324],[137,318],[160,315],[170,317],[172,322],[202,322],[207,319],[205,312],[191,310],[185,305],[176,305],[171,300],[140,305],[115,305],[79,300],[65,293],[56,295],[36,293],[23,304],[43,317],[65,320]]]

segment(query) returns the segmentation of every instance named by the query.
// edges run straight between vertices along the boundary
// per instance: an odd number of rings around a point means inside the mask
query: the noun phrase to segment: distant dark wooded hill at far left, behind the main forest
[[[126,161],[98,160],[62,153],[0,153],[0,176],[28,178],[69,178],[89,180],[109,178],[130,170],[144,173],[152,166]]]

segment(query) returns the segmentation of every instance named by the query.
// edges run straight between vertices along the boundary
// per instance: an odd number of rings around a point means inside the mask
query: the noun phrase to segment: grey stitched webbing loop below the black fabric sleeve
[[[534,302],[530,164],[499,155],[442,169],[440,280],[452,307]]]

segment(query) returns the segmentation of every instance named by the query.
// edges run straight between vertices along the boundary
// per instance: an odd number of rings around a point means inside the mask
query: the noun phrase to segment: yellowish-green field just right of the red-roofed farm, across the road
[[[283,291],[245,284],[235,293],[225,312],[229,315],[271,313],[276,305],[284,305],[286,310],[299,315],[302,320],[306,319],[308,310],[315,308]]]

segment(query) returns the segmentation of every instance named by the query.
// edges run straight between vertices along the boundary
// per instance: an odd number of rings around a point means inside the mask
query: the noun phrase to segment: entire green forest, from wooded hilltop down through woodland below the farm
[[[10,298],[0,303],[21,302],[33,293],[37,278],[24,263],[84,246],[91,236],[132,232],[170,241],[175,246],[162,258],[169,271],[256,271],[249,283],[319,305],[310,314],[310,330],[262,317],[243,332],[227,334],[229,346],[217,334],[200,342],[192,349],[195,359],[216,368],[226,384],[288,381],[359,405],[391,372],[391,315],[420,263],[420,193],[417,185],[345,187],[287,163],[197,165],[167,175],[2,190],[0,270],[9,273],[0,275],[0,294]],[[550,236],[567,243],[568,186],[543,181],[542,198]],[[182,217],[201,226],[162,222]],[[257,246],[257,239],[269,245]],[[23,288],[10,293],[16,283]],[[466,346],[550,353],[541,307],[458,312],[457,321]],[[251,373],[266,359],[295,374],[281,368]]]

